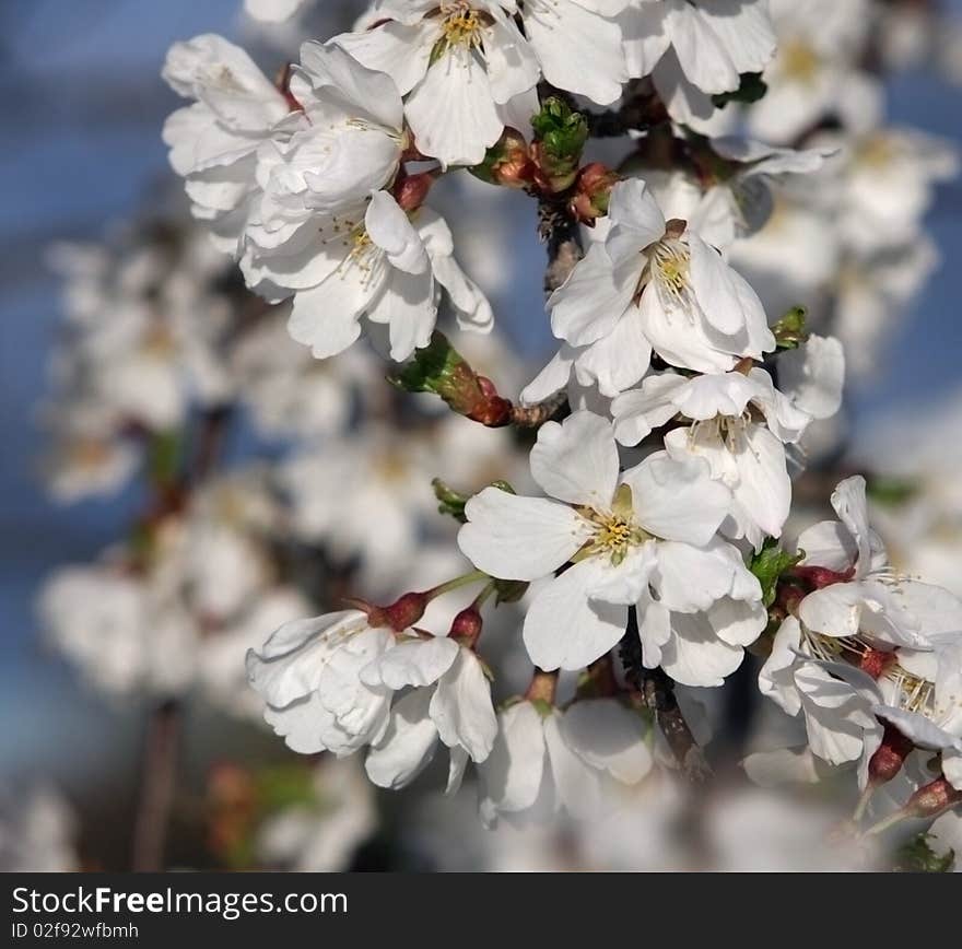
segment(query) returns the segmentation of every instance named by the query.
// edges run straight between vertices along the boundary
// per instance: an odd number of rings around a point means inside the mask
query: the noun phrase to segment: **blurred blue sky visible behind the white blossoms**
[[[239,5],[0,4],[0,773],[33,769],[75,780],[132,751],[139,734],[139,716],[80,689],[69,670],[44,655],[35,632],[33,598],[44,575],[57,564],[91,559],[119,534],[136,502],[126,495],[62,508],[38,489],[43,440],[34,406],[60,318],[44,253],[56,238],[97,237],[159,189],[167,176],[160,129],[178,102],[159,78],[164,54],[175,39],[201,32],[236,36]],[[899,78],[890,114],[962,145],[960,91],[938,78]],[[896,339],[895,358],[871,390],[855,394],[863,418],[905,401],[939,399],[962,382],[959,183],[940,189],[929,223],[943,265]],[[544,321],[530,318],[541,307],[540,254],[533,241],[526,244],[516,260],[524,279],[500,307],[502,321],[532,355],[548,344]]]

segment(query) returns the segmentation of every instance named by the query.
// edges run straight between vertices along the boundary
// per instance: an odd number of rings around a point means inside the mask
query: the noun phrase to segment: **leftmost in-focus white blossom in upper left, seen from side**
[[[197,99],[164,125],[171,164],[187,179],[195,216],[209,222],[221,249],[234,253],[258,191],[257,150],[290,105],[243,49],[212,33],[175,43],[163,77]]]

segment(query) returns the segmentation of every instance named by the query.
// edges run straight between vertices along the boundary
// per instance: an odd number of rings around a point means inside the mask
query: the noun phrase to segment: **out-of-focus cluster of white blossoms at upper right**
[[[832,154],[779,194],[767,226],[734,247],[732,259],[766,305],[803,303],[814,326],[831,326],[856,377],[879,371],[938,263],[924,219],[937,185],[959,167],[950,142],[887,124],[881,68],[894,55],[891,44],[867,50],[880,36],[912,34],[902,22],[908,7],[776,0],[769,90],[747,114],[753,136]]]

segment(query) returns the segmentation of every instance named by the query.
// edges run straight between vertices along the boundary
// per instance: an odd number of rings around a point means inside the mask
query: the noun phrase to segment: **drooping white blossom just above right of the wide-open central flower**
[[[623,445],[636,445],[677,415],[691,420],[665,435],[665,448],[672,458],[697,456],[708,462],[712,477],[732,493],[732,523],[723,525],[723,532],[744,537],[755,549],[766,536],[781,536],[788,517],[785,444],[797,443],[813,419],[834,414],[841,405],[844,359],[837,340],[811,337],[784,360],[789,373],[796,371],[790,380],[805,382],[797,398],[791,387],[779,391],[764,370],[754,367],[691,379],[655,373],[611,403]]]

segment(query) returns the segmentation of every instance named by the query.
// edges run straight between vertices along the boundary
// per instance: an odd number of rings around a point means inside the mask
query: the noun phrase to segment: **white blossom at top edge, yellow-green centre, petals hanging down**
[[[388,73],[422,154],[443,165],[477,165],[508,121],[512,101],[532,90],[538,60],[511,14],[514,0],[383,0],[386,21],[335,43]]]

